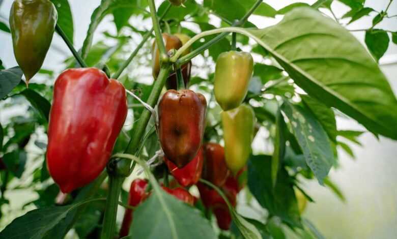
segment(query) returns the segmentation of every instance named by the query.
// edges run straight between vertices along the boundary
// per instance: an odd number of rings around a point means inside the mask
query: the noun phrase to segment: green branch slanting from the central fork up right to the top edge
[[[245,21],[248,19],[248,17],[259,7],[259,5],[261,5],[261,3],[263,2],[263,0],[257,0],[257,2],[252,6],[252,8],[239,20],[233,23],[232,26],[240,26],[242,24],[245,23]],[[194,51],[190,52],[189,54],[182,56],[179,60],[178,57],[182,54],[183,51],[177,51],[177,54],[174,55],[171,58],[171,62],[177,62],[178,66],[182,66],[183,64],[187,63],[188,61],[190,61],[191,58],[193,58],[194,56],[200,54],[201,52],[203,52],[204,50],[208,49],[209,47],[211,47],[212,45],[214,45],[215,43],[219,42],[220,40],[222,40],[225,36],[227,36],[229,33],[225,32],[222,34],[219,34],[219,36],[216,36],[215,38],[213,38],[211,41],[203,44],[202,46],[198,47],[197,49],[195,49]],[[184,46],[186,46],[187,44],[183,45],[180,49],[185,48]],[[191,44],[189,44],[188,47],[190,47]],[[186,47],[185,50],[188,48]]]

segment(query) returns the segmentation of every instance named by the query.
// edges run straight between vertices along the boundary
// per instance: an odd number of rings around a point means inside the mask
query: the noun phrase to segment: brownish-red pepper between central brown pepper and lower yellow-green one
[[[224,159],[223,147],[217,143],[206,143],[202,177],[217,187],[222,187],[229,176],[229,168]]]

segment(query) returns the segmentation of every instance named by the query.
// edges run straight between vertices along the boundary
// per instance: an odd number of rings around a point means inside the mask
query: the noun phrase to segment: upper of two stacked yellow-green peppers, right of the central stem
[[[228,51],[218,56],[215,67],[214,95],[223,110],[238,107],[248,91],[253,59],[247,52]]]

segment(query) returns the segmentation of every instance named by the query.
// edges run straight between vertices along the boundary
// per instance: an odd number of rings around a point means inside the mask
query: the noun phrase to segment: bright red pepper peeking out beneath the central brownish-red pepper
[[[203,170],[203,150],[200,148],[196,157],[183,168],[178,168],[173,162],[164,157],[169,172],[174,176],[178,183],[183,187],[188,187],[196,184],[200,180],[201,172]]]

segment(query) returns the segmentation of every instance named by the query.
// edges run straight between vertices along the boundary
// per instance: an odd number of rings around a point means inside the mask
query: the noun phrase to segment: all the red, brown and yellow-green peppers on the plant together
[[[185,1],[171,1],[181,5]],[[57,20],[49,0],[15,0],[10,26],[15,58],[26,84],[40,70],[49,49]],[[42,37],[47,36],[44,40]],[[166,50],[179,49],[190,38],[183,34],[163,34]],[[189,53],[190,49],[182,55]],[[159,70],[159,51],[153,44],[153,76]],[[224,148],[203,144],[207,102],[203,95],[178,89],[177,73],[166,81],[168,91],[158,104],[159,139],[164,162],[180,186],[164,191],[193,205],[195,198],[185,189],[197,185],[204,205],[211,210],[221,229],[231,224],[223,198],[200,178],[221,188],[233,206],[244,185],[243,172],[250,154],[254,114],[242,104],[252,74],[249,53],[230,51],[219,55],[215,70],[214,94],[224,110],[221,120]],[[181,67],[184,86],[190,79],[191,62]],[[227,86],[227,87],[226,87]],[[90,105],[88,108],[87,105]],[[124,86],[109,79],[97,68],[68,69],[55,81],[48,125],[47,167],[64,193],[92,182],[105,168],[127,116]],[[68,147],[65,147],[68,145]],[[137,206],[150,194],[148,182],[132,182],[129,205]],[[120,236],[128,234],[132,210],[126,210]]]

